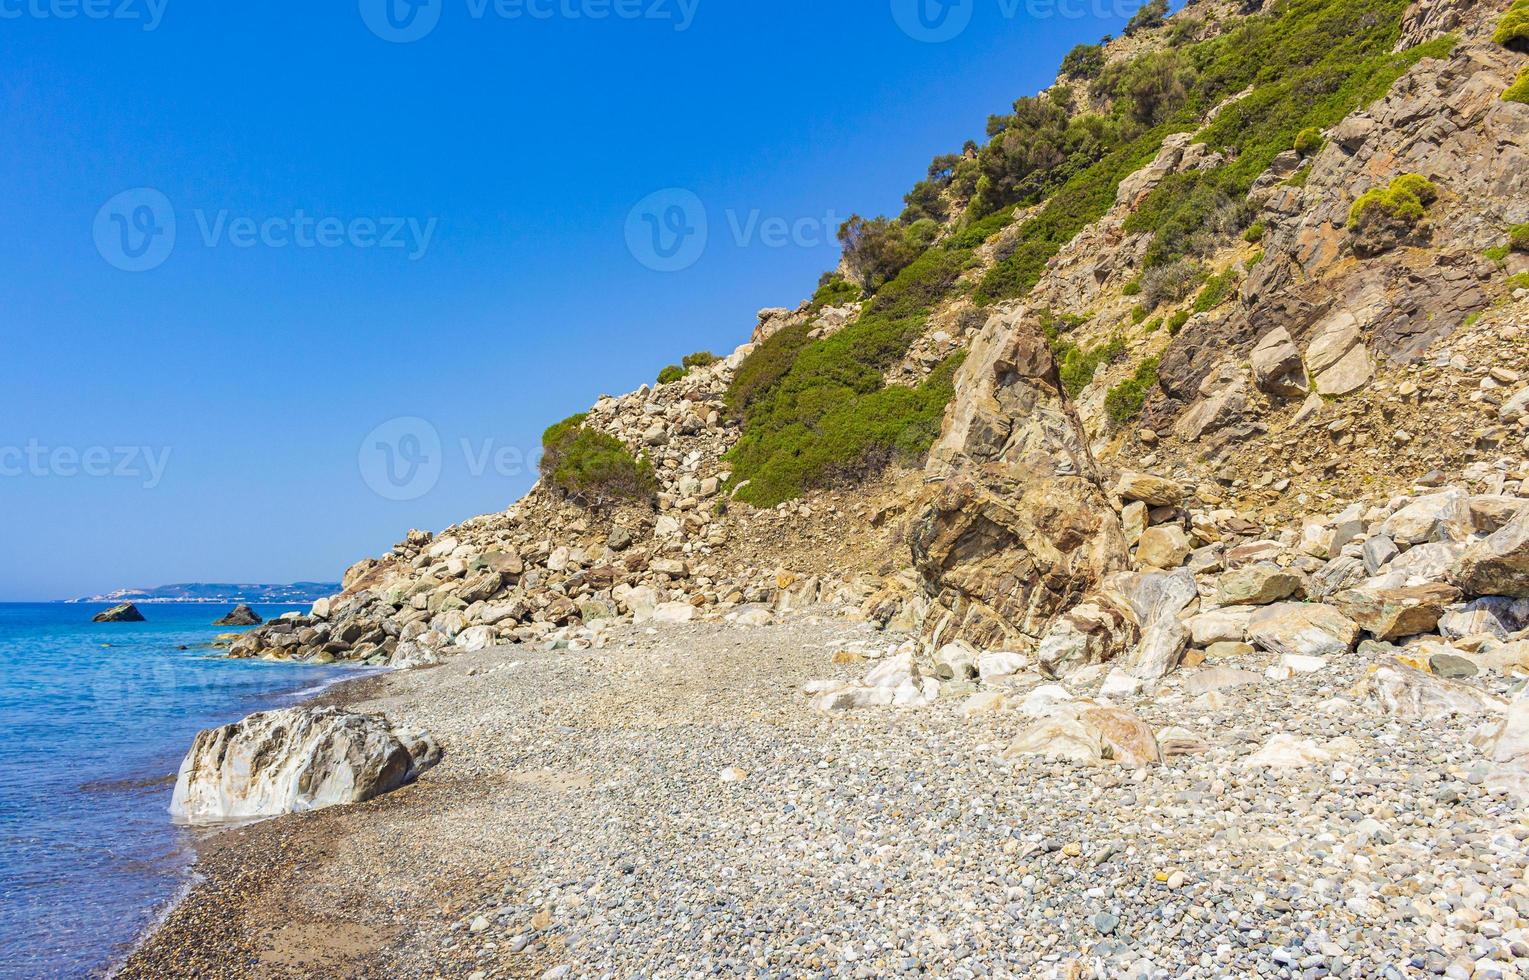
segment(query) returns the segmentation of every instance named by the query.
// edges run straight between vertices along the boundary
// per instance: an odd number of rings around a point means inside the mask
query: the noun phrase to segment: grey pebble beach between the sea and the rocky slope
[[[812,709],[861,624],[622,627],[327,697],[430,728],[376,801],[226,830],[122,977],[1518,977],[1521,812],[1479,720],[1347,699],[1364,654],[1268,654],[1116,699],[1202,754],[1005,760],[1020,712]],[[836,656],[838,654],[838,656]],[[838,660],[839,664],[835,664]],[[1226,671],[1242,670],[1243,674]],[[1237,686],[1203,693],[1235,679]],[[1038,679],[1017,679],[1024,685]],[[1271,737],[1326,761],[1264,769]]]

